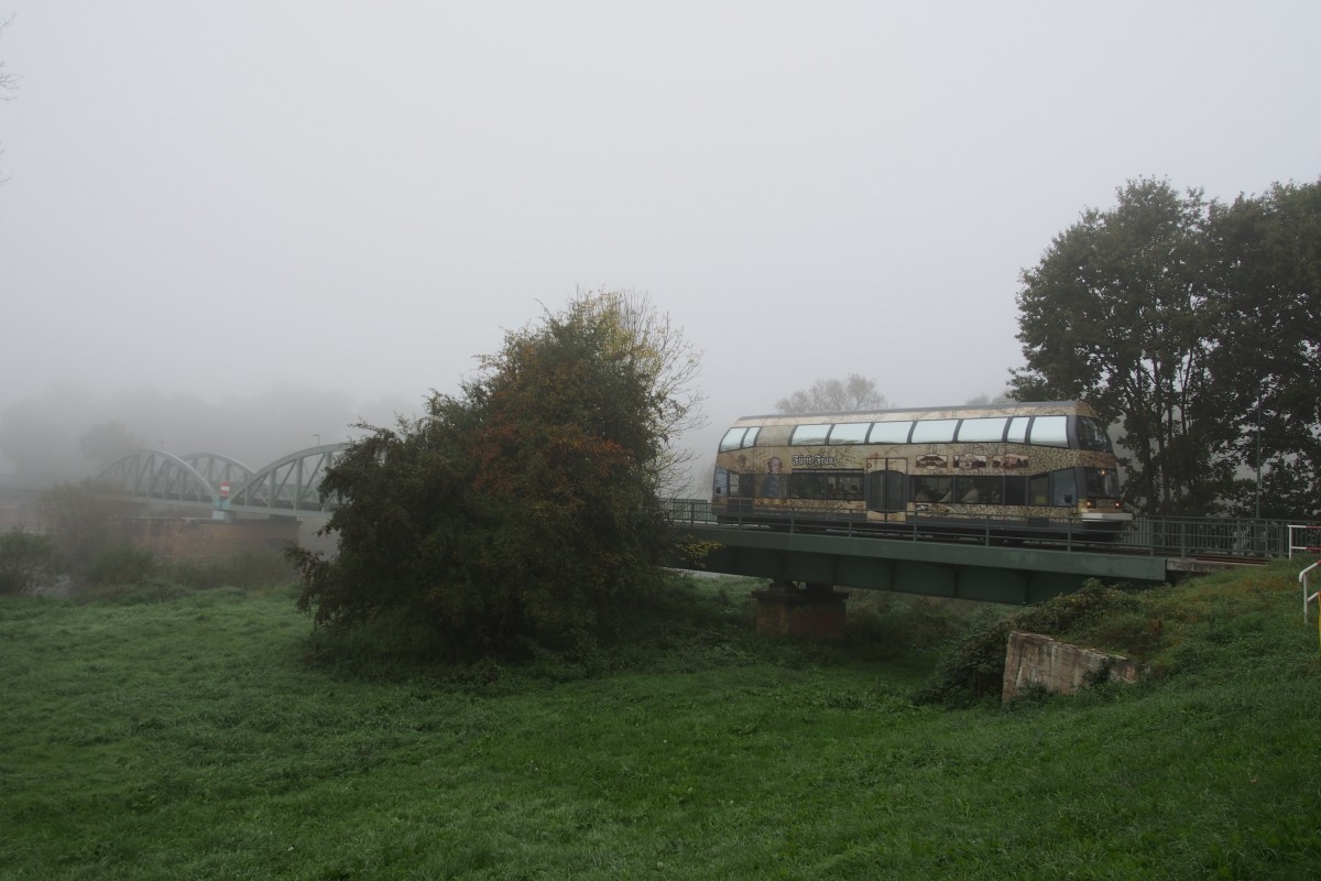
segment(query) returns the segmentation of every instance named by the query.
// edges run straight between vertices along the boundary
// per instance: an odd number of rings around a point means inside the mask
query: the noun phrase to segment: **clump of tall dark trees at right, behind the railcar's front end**
[[[1321,514],[1321,184],[1116,194],[1024,271],[1015,396],[1119,423],[1149,512]]]

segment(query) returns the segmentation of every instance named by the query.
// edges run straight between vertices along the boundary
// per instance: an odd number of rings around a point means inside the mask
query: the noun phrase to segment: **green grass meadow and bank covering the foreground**
[[[1296,573],[1143,594],[1144,683],[964,711],[910,700],[958,621],[886,598],[819,649],[688,585],[625,646],[428,670],[291,590],[5,597],[0,878],[1321,877]]]

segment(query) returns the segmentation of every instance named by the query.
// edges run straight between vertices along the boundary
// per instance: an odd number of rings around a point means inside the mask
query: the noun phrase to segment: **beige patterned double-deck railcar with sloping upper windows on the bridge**
[[[716,453],[720,522],[1112,538],[1106,427],[1082,402],[745,416]]]

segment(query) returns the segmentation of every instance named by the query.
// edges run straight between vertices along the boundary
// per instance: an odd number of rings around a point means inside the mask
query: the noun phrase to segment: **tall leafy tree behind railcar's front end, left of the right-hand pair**
[[[1087,399],[1119,423],[1128,501],[1207,514],[1232,481],[1232,436],[1214,409],[1203,313],[1207,203],[1164,181],[1129,181],[1021,276],[1018,400]]]

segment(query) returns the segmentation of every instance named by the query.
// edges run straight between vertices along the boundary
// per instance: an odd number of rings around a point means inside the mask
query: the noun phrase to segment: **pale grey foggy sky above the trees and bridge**
[[[1021,363],[1018,272],[1127,180],[1321,174],[1306,0],[11,13],[0,411],[420,402],[601,287],[705,353],[716,437],[849,372],[962,403]]]

